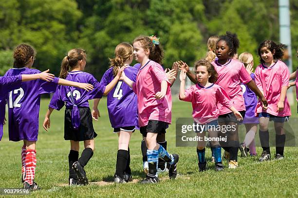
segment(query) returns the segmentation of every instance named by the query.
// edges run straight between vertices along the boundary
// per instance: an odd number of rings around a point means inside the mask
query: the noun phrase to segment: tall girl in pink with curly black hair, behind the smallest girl
[[[248,87],[256,93],[261,99],[264,106],[267,105],[267,101],[258,89],[255,81],[247,73],[243,63],[236,59],[231,59],[237,53],[239,47],[239,40],[236,34],[226,32],[226,35],[222,35],[216,44],[216,56],[218,60],[213,61],[218,79],[216,84],[223,87],[232,102],[234,107],[242,114],[245,115],[245,104],[242,95],[241,82],[247,84]],[[189,67],[186,63],[180,62],[182,67],[187,72],[187,76],[191,81],[196,82],[195,76],[189,71]],[[229,160],[229,168],[237,168],[237,155],[239,149],[239,137],[238,137],[238,120],[231,111],[224,107],[221,103],[217,104],[220,111],[219,124],[235,126],[235,131],[229,131],[226,134],[221,134],[222,137],[226,136],[227,142],[220,142],[223,149],[226,151],[225,158]]]

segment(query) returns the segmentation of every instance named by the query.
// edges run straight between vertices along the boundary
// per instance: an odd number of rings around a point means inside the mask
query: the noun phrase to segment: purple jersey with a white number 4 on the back
[[[125,75],[132,81],[136,81],[138,69],[128,67]],[[113,76],[113,68],[108,69],[103,75],[100,83],[109,84]],[[107,97],[109,118],[113,128],[138,125],[137,96],[123,81],[118,81]]]

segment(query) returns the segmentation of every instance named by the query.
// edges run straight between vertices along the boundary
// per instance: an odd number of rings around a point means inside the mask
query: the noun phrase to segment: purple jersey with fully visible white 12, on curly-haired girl
[[[23,67],[9,69],[5,76],[37,73],[40,73],[37,69]],[[40,95],[55,92],[58,81],[58,78],[54,78],[51,82],[41,79],[22,82],[19,89],[9,92],[7,97],[9,140],[37,141]]]

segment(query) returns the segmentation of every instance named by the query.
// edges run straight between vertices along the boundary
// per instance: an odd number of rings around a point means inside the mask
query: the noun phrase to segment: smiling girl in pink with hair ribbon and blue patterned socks
[[[140,132],[146,137],[149,173],[141,183],[157,183],[158,158],[163,158],[169,167],[169,176],[177,175],[179,156],[170,155],[162,145],[156,141],[159,133],[165,133],[171,123],[171,91],[170,82],[162,66],[151,60],[160,60],[163,52],[155,37],[140,36],[133,41],[133,54],[141,63],[136,82],[131,81],[123,73],[123,80],[132,87],[138,97],[138,116]]]

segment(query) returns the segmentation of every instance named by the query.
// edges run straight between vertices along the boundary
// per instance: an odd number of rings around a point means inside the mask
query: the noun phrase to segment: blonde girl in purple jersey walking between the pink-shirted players
[[[248,52],[243,52],[239,56],[239,61],[242,62],[246,68],[246,71],[250,77],[255,80],[255,74],[252,73],[254,66],[254,58],[252,54]],[[243,118],[242,123],[245,125],[246,135],[243,142],[240,144],[241,157],[247,157],[249,147],[250,156],[257,156],[256,153],[256,144],[255,144],[255,135],[257,133],[257,128],[259,124],[259,119],[255,117],[255,110],[257,106],[257,96],[251,91],[251,89],[246,84],[241,84],[244,103],[245,103],[245,117]]]

